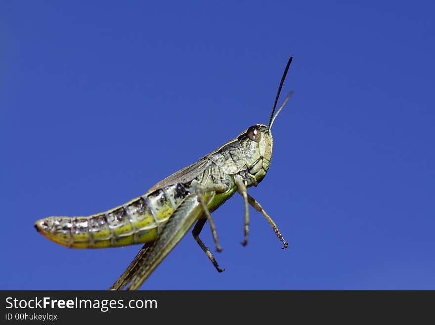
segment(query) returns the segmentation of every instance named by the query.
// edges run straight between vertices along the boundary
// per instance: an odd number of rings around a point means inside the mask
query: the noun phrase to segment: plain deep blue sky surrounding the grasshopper
[[[432,1],[1,1],[0,289],[106,289],[140,246],[72,250],[34,229],[143,194],[267,123],[266,178],[190,233],[142,289],[435,289]],[[213,247],[208,226],[203,240]]]

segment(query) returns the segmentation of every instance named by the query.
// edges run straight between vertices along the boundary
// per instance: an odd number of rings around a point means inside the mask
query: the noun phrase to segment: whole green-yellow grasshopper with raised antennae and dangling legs
[[[290,57],[272,107],[268,125],[257,124],[243,131],[198,162],[181,169],[151,187],[145,194],[106,212],[88,217],[48,217],[35,228],[46,238],[69,248],[105,248],[144,243],[110,290],[137,290],[194,225],[192,234],[201,249],[222,272],[212,252],[199,237],[208,221],[217,251],[221,251],[211,213],[238,191],[244,201],[244,240],[248,242],[251,204],[269,222],[287,248],[278,227],[247,187],[257,186],[266,175],[272,157],[271,128],[293,92],[274,115],[279,94],[292,62]]]

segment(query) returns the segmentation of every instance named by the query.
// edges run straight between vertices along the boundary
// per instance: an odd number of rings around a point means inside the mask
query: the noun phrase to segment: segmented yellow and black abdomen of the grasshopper
[[[189,194],[180,184],[139,196],[89,217],[48,217],[35,228],[46,238],[71,248],[118,247],[154,241],[160,228]]]

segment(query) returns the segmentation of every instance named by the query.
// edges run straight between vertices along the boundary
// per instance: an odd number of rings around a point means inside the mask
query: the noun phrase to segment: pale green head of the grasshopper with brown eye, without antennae
[[[273,138],[270,129],[263,124],[248,128],[237,137],[243,148],[248,172],[260,183],[270,166]]]

